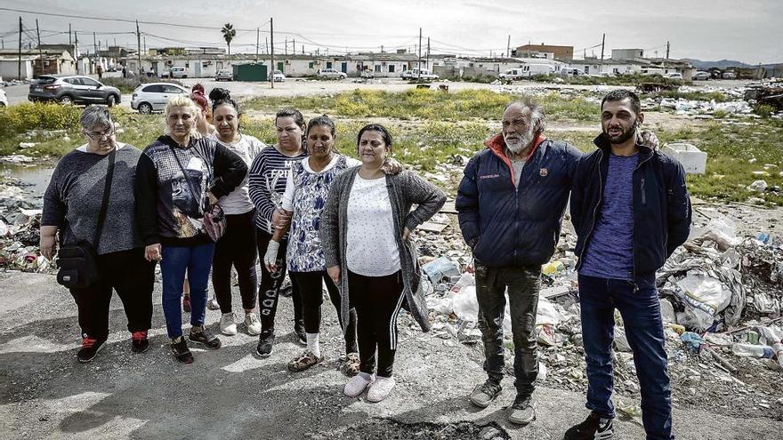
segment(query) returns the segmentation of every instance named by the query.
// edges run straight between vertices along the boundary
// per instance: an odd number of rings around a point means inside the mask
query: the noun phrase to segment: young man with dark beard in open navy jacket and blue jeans
[[[682,165],[636,140],[643,119],[634,92],[609,92],[601,103],[598,149],[581,160],[574,176],[570,211],[592,412],[569,428],[567,440],[613,436],[615,308],[634,352],[647,438],[674,438],[655,271],[688,237],[690,199]]]

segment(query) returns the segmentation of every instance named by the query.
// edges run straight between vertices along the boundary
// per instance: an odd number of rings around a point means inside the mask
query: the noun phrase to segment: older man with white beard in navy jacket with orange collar
[[[544,109],[515,101],[503,113],[503,131],[485,142],[464,170],[456,196],[459,226],[471,246],[488,380],[472,404],[487,407],[501,392],[504,371],[505,292],[511,310],[516,398],[508,420],[536,419],[538,374],[536,311],[541,265],[553,255],[582,153],[546,139]]]

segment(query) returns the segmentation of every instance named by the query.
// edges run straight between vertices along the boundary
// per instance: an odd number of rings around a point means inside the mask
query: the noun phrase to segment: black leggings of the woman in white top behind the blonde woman
[[[214,245],[212,287],[221,313],[231,313],[231,266],[237,268],[242,308],[255,308],[258,278],[255,262],[255,210],[243,214],[226,214],[226,232]]]

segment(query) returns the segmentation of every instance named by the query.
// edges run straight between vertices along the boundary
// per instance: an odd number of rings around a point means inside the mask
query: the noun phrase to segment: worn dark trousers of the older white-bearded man
[[[484,371],[500,383],[505,367],[503,316],[508,289],[511,332],[514,345],[514,388],[530,396],[538,375],[536,312],[541,288],[541,268],[488,268],[475,261],[476,299],[479,302],[479,329],[484,342]]]

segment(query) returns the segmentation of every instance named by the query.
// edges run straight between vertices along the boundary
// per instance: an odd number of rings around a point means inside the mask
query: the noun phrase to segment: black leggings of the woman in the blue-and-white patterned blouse
[[[299,284],[299,292],[302,293],[302,311],[304,318],[304,331],[318,333],[321,326],[321,304],[324,302],[322,283],[327,284],[329,300],[337,310],[337,320],[341,329],[345,328],[345,353],[356,353],[356,310],[351,308],[348,325],[343,326],[343,317],[340,313],[340,291],[335,282],[327,275],[326,270],[319,272],[294,272],[291,278]]]

